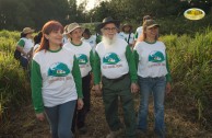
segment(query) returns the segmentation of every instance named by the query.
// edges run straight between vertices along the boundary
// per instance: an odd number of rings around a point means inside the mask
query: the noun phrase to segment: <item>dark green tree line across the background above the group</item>
[[[31,26],[40,30],[45,22],[102,22],[111,15],[125,22],[140,23],[143,15],[156,19],[182,16],[188,8],[200,8],[211,13],[212,0],[110,0],[85,11],[86,0],[0,0],[0,30],[22,30]]]

